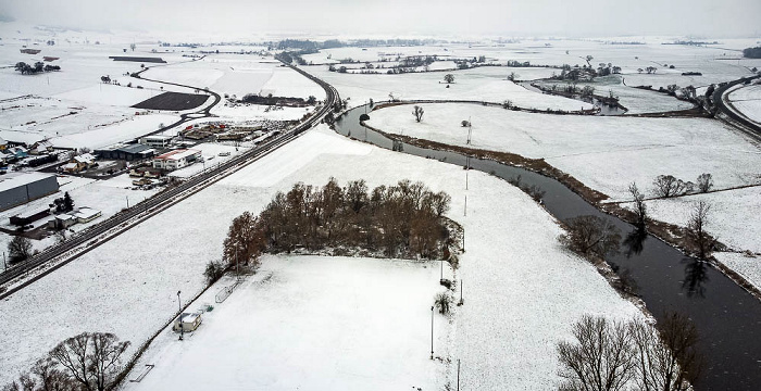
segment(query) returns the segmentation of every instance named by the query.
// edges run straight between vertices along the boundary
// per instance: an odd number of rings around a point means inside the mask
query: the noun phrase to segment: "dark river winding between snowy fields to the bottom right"
[[[364,106],[355,108],[339,117],[336,131],[380,148],[465,166],[465,155],[395,142],[363,127],[359,116],[364,110]],[[608,257],[608,262],[620,270],[628,269],[637,292],[657,319],[666,311],[679,312],[694,321],[700,333],[704,368],[694,384],[696,389],[761,389],[759,300],[710,265],[684,255],[650,235],[634,235],[634,226],[598,211],[554,179],[487,160],[470,159],[470,166],[503,179],[520,175],[522,184],[540,187],[546,191],[545,206],[560,220],[595,215],[615,224],[625,239],[620,254]]]

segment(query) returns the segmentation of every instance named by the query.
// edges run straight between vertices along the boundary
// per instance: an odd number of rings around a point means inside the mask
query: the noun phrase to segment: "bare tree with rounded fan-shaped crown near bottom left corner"
[[[121,355],[129,341],[110,332],[83,332],[59,343],[50,357],[87,391],[110,388],[121,370]]]

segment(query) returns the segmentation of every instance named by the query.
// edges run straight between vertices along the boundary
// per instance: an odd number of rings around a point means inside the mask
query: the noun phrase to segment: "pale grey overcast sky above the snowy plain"
[[[560,0],[340,0],[287,5],[221,0],[0,0],[0,21],[99,31],[198,35],[420,36],[420,37],[710,37],[758,38],[761,2],[640,0],[636,4],[570,7]]]

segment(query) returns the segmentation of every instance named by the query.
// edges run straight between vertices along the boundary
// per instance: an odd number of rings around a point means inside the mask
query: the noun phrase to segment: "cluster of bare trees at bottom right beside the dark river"
[[[573,336],[557,345],[560,390],[686,391],[701,373],[697,329],[681,314],[665,314],[656,327],[585,315]]]

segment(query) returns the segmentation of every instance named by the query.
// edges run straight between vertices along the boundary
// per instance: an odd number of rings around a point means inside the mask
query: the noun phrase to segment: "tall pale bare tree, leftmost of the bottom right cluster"
[[[636,351],[627,325],[585,315],[573,326],[574,342],[558,343],[561,390],[617,391],[633,379]]]

